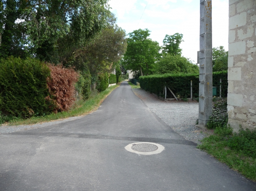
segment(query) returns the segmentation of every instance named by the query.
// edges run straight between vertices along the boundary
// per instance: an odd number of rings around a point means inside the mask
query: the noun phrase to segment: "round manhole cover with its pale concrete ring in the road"
[[[154,142],[135,142],[124,147],[132,153],[141,155],[159,154],[164,150],[164,146]]]

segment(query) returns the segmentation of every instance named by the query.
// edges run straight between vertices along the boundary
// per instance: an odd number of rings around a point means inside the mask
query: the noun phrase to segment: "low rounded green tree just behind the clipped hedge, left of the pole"
[[[164,73],[199,73],[197,65],[185,57],[179,55],[172,56],[171,54],[164,55],[160,61],[157,62],[158,71]]]

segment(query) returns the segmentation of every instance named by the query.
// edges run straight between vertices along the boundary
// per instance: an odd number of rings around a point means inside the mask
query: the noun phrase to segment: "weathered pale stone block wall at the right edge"
[[[256,128],[256,0],[229,0],[228,124]]]

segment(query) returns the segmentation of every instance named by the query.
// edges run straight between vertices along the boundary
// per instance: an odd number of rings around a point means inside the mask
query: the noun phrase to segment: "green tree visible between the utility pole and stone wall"
[[[228,69],[228,51],[223,46],[213,48],[213,72]]]

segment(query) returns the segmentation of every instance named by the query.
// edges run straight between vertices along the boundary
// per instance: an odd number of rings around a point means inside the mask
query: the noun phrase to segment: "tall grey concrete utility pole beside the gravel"
[[[211,3],[200,0],[199,126],[206,126],[213,111]]]

